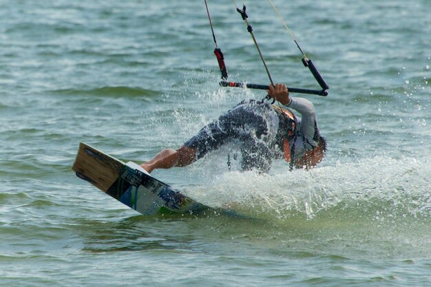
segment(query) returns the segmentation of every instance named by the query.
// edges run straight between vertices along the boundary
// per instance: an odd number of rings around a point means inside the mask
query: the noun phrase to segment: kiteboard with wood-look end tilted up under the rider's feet
[[[81,142],[72,167],[76,176],[143,215],[193,213],[209,207],[154,178],[134,162],[122,162]]]

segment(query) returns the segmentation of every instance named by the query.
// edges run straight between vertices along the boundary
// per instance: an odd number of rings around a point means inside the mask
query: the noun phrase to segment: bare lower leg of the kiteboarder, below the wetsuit
[[[151,173],[154,169],[170,169],[171,167],[186,167],[196,161],[196,149],[183,145],[179,149],[163,149],[154,158],[141,164]]]

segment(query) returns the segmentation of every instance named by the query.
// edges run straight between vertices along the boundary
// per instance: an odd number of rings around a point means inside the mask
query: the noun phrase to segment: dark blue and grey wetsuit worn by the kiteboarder
[[[295,145],[294,160],[317,146],[319,129],[313,104],[304,98],[291,98],[286,107],[301,114],[301,119],[295,117],[294,132],[291,131],[292,120],[282,109],[268,102],[251,100],[213,120],[185,142],[185,146],[196,149],[199,159],[224,143],[238,139],[241,142],[242,169],[269,171],[272,160],[283,156],[284,138],[288,138],[290,147]]]

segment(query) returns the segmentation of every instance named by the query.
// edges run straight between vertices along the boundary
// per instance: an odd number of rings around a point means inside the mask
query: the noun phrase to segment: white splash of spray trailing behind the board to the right
[[[340,205],[377,204],[379,209],[383,204],[384,209],[400,209],[414,217],[431,211],[427,161],[375,157],[311,171],[275,167],[264,175],[231,171],[212,177],[207,172],[204,183],[187,189],[187,194],[211,207],[253,216],[264,213],[283,218],[301,213],[312,219]]]

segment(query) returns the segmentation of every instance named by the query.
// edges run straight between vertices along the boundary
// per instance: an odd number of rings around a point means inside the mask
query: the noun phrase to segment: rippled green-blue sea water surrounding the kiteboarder
[[[208,2],[230,80],[267,85],[233,3]],[[274,81],[318,89],[245,3]],[[78,143],[143,162],[266,92],[218,86],[204,1],[0,1],[1,286],[430,286],[430,2],[274,3],[330,85],[291,94],[326,159],[259,175],[220,149],[154,171],[211,210],[145,217],[74,175]]]

